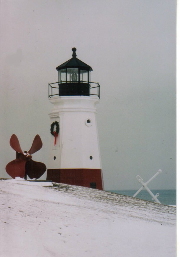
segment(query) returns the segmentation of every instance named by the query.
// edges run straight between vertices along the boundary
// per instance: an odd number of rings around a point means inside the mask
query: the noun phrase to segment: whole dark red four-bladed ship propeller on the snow
[[[32,160],[32,154],[37,152],[42,147],[42,141],[39,135],[36,135],[30,150],[22,151],[19,140],[15,134],[10,138],[10,146],[16,151],[16,159],[6,165],[6,172],[13,179],[15,177],[25,178],[27,175],[30,179],[39,179],[46,171],[44,163]]]

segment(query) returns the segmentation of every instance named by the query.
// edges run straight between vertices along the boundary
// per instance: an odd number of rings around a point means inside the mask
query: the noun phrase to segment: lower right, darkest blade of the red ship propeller
[[[30,179],[39,179],[46,171],[44,163],[29,160],[26,163],[26,173]]]

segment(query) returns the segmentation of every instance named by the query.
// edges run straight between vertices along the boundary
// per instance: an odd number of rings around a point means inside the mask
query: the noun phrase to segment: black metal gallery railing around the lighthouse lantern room
[[[96,84],[95,86],[91,86]],[[81,82],[72,82],[72,81],[60,81],[49,83],[49,98],[55,96],[97,96],[100,99],[100,85],[99,82],[90,82],[81,81]]]

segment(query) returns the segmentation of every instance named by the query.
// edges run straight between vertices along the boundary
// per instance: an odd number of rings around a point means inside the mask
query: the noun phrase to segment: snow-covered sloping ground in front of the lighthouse
[[[175,207],[85,187],[13,181],[0,181],[1,257],[176,256]]]

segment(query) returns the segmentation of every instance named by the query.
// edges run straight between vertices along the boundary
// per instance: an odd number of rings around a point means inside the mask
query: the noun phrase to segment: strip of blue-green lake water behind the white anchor
[[[133,196],[137,190],[108,190],[108,192],[113,192],[116,194],[120,194],[120,195],[127,195],[127,196]],[[153,195],[156,195],[157,193],[159,193],[158,196],[158,200],[160,201],[160,203],[165,204],[165,205],[176,205],[176,190],[171,189],[171,190],[166,190],[166,189],[152,189],[151,192],[153,193]],[[141,190],[139,192],[138,195],[136,195],[135,198],[139,198],[139,199],[143,199],[143,200],[147,200],[147,201],[151,201],[154,202],[154,200],[152,200],[152,196],[150,196],[150,194],[146,191],[146,190]]]

